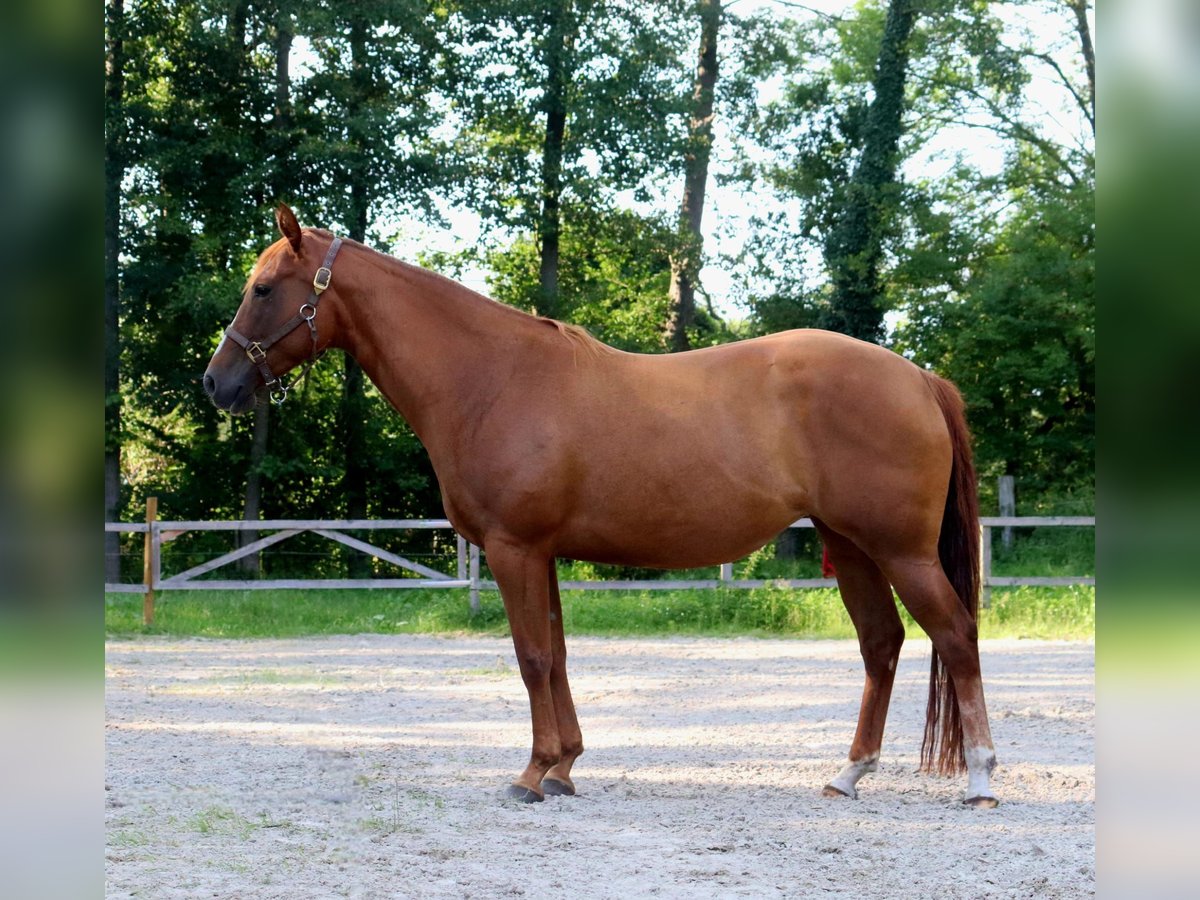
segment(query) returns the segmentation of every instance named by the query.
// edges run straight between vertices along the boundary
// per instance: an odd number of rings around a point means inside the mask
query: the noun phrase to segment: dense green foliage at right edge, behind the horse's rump
[[[1013,204],[989,242],[958,257],[949,283],[913,258],[904,288],[916,296],[898,343],[962,390],[984,476],[1015,475],[1022,493],[1086,486],[1096,462],[1093,191],[1034,182]]]

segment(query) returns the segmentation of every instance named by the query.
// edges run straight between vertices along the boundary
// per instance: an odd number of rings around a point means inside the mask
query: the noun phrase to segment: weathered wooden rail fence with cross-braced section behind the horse
[[[1066,576],[1066,577],[997,577],[991,572],[991,529],[992,528],[1027,528],[1027,527],[1096,527],[1094,516],[990,516],[979,520],[982,530],[982,563],[983,563],[983,602],[986,606],[994,587],[1016,586],[1068,586],[1068,584],[1096,584],[1093,576]],[[802,518],[793,522],[792,528],[812,528],[812,520]],[[140,582],[106,582],[106,593],[138,593],[143,595],[143,619],[146,624],[154,622],[155,592],[157,590],[263,590],[280,588],[468,588],[468,596],[472,610],[479,608],[479,592],[494,590],[496,582],[480,577],[480,553],[479,547],[468,544],[461,535],[457,536],[457,552],[455,554],[455,574],[431,569],[421,563],[392,553],[389,550],[378,547],[358,538],[353,538],[343,532],[374,532],[374,530],[452,530],[449,520],[445,518],[418,518],[418,520],[256,520],[256,521],[160,521],[157,517],[157,500],[150,498],[146,502],[145,522],[106,522],[106,532],[134,533],[145,535],[143,541],[143,576]],[[162,547],[163,544],[187,532],[271,532],[265,538],[258,538],[236,550],[209,559],[199,565],[191,566],[184,571],[167,574],[162,571]],[[312,533],[335,544],[349,547],[374,557],[382,562],[390,563],[406,572],[407,577],[401,578],[235,578],[217,580],[204,578],[217,569],[234,563],[245,557],[257,554],[266,547],[293,538],[304,532]],[[833,578],[734,578],[733,563],[725,563],[720,566],[716,578],[654,578],[654,580],[629,580],[629,581],[563,581],[559,587],[564,590],[680,590],[695,588],[832,588],[836,587]]]

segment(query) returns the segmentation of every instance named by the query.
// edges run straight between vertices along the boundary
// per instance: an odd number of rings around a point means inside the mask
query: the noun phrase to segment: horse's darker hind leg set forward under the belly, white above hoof
[[[883,572],[850,539],[817,522],[838,574],[838,589],[858,631],[858,647],[866,668],[858,728],[850,745],[850,761],[824,787],[826,797],[857,797],[856,785],[875,772],[883,743],[883,724],[895,682],[896,660],[904,643],[904,624],[892,599],[892,586]]]

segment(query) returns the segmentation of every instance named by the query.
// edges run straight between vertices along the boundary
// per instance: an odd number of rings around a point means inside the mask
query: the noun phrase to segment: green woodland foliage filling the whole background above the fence
[[[935,0],[920,5],[908,37],[899,143],[864,160],[887,8],[863,0],[841,18],[800,24],[778,10],[725,11],[716,118],[736,139],[746,136],[734,163],[762,211],[734,280],[749,286],[746,329],[829,324],[827,257],[846,229],[865,234],[846,214],[860,202],[880,214],[866,241],[880,250],[878,268],[864,269],[881,286],[876,311],[892,313],[899,349],[964,390],[985,502],[994,476],[1009,472],[1022,512],[1066,497],[1085,506],[1072,511],[1090,512],[1090,144],[1049,139],[1022,104],[1033,67],[1045,66],[1042,48],[1014,41],[990,4]],[[554,22],[569,37],[556,65],[570,73],[557,310],[617,347],[656,352],[680,250],[690,2],[127,5],[125,100],[106,115],[126,166],[121,420],[106,434],[121,446],[122,517],[139,518],[150,494],[168,518],[241,514],[252,422],[218,414],[199,378],[250,266],[275,238],[277,199],[306,224],[376,244],[400,218],[438,222],[450,204],[466,204],[492,227],[474,262],[491,270],[497,296],[535,306]],[[278,53],[289,41],[312,53],[283,79]],[[1063,78],[1076,68],[1064,62]],[[769,103],[768,82],[779,86]],[[901,176],[856,194],[864,166],[894,154],[902,173],[962,122],[1008,142],[1003,172],[962,160],[946,176]],[[703,307],[689,332],[692,346],[732,336]],[[271,412],[266,454],[253,463],[262,515],[344,514],[344,392],[342,367],[326,360],[304,396]],[[436,514],[426,455],[373,388],[361,418],[368,515]],[[763,557],[754,568],[788,565]]]

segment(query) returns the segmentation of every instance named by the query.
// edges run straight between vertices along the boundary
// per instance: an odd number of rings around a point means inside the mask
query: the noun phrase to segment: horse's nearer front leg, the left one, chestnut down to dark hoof
[[[504,599],[504,611],[512,631],[512,646],[521,679],[529,691],[533,718],[533,752],[524,772],[508,790],[508,796],[526,803],[544,799],[541,780],[563,755],[551,672],[554,662],[550,620],[550,565],[545,554],[500,540],[488,541],[487,564]]]

